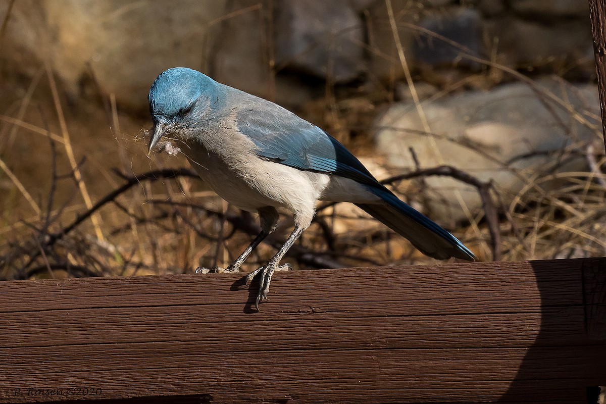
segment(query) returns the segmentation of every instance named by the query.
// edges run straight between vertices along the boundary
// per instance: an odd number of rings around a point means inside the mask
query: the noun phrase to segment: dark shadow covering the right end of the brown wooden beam
[[[606,385],[606,259],[529,263],[541,327],[499,402],[597,404]]]

